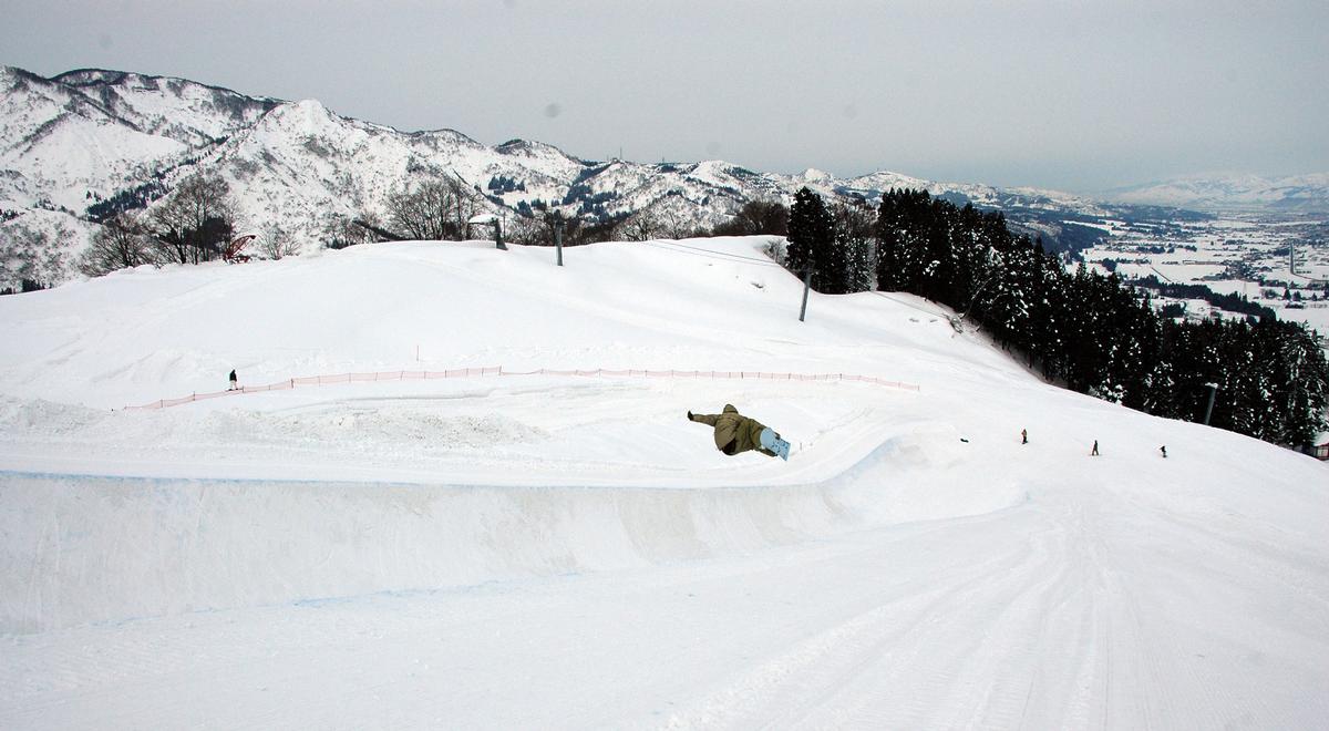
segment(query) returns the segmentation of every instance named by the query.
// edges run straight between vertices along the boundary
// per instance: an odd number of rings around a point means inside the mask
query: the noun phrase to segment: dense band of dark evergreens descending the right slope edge
[[[1305,445],[1326,427],[1329,362],[1305,326],[1177,323],[1116,276],[1069,274],[1042,241],[1014,239],[999,214],[892,190],[877,211],[877,286],[971,315],[1049,380],[1127,407]]]

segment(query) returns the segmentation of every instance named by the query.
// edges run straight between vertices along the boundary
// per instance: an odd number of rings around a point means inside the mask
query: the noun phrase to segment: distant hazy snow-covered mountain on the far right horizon
[[[1107,191],[1123,203],[1217,211],[1329,213],[1329,174],[1185,177]]]

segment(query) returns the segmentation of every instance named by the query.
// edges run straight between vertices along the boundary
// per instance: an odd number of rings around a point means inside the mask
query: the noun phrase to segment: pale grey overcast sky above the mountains
[[[1329,171],[1329,0],[0,0],[0,64],[590,159],[1096,191]]]

